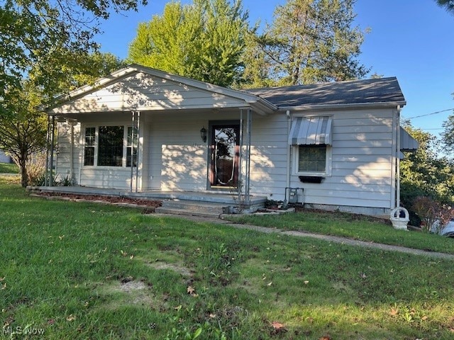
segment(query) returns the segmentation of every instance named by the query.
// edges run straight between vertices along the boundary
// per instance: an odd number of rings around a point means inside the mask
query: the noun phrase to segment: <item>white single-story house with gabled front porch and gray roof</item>
[[[45,111],[55,173],[77,186],[384,215],[417,148],[405,103],[395,77],[238,91],[132,64]]]

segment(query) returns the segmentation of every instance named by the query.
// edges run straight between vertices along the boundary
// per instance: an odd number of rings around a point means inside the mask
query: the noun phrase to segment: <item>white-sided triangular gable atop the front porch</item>
[[[131,65],[63,96],[49,114],[103,111],[155,111],[252,106],[264,113],[272,104],[242,91]]]

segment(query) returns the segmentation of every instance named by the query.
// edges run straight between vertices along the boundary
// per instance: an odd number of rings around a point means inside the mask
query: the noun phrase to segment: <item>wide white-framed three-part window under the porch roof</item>
[[[84,166],[137,166],[137,129],[118,125],[86,127]],[[132,157],[131,157],[132,154]]]

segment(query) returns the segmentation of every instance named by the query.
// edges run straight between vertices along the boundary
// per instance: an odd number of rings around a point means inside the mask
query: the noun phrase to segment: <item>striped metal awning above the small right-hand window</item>
[[[289,145],[331,145],[331,123],[333,119],[323,117],[297,117],[292,120]]]

